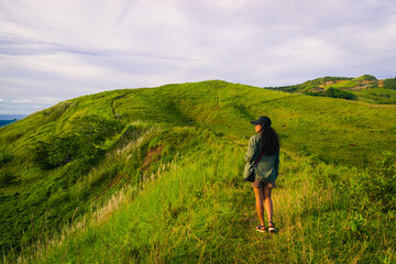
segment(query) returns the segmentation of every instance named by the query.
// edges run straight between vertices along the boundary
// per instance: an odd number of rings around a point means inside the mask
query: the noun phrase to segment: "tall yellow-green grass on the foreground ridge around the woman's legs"
[[[245,147],[206,132],[196,148],[109,199],[37,263],[393,263],[393,215],[339,193],[361,172],[283,152],[273,191],[277,234],[254,231],[254,194],[242,182]],[[191,138],[190,138],[191,139]],[[196,150],[201,155],[197,155]],[[369,173],[369,172],[365,172]],[[366,205],[374,208],[374,205]],[[359,228],[356,228],[359,227]]]

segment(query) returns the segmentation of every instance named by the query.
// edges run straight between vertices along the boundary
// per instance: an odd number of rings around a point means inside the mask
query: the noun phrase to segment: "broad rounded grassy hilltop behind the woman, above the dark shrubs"
[[[33,139],[45,140],[52,134],[65,133],[68,120],[88,114],[106,118],[119,114],[124,124],[141,120],[168,125],[198,125],[241,136],[246,135],[250,128],[246,121],[267,114],[274,119],[275,129],[288,138],[285,142],[288,147],[319,155],[326,161],[362,165],[362,160],[373,162],[375,150],[371,141],[375,144],[387,142],[381,146],[382,150],[393,150],[396,145],[395,109],[395,106],[367,106],[207,81],[77,98],[38,112],[18,125],[4,128],[0,140],[2,147],[23,151]],[[19,140],[20,135],[24,139]],[[329,153],[329,142],[334,143],[331,153],[337,156]],[[356,150],[360,156],[351,155]]]

